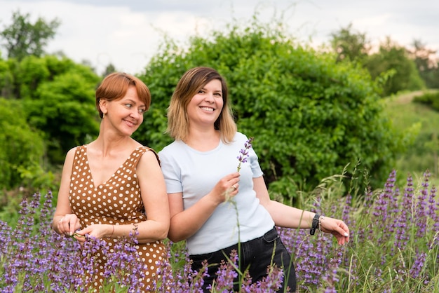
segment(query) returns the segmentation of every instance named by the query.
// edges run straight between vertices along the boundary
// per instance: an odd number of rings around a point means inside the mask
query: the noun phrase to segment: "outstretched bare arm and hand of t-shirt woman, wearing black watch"
[[[259,202],[268,210],[276,226],[293,229],[311,228],[314,212],[299,210],[296,207],[271,200],[263,177],[254,178],[253,184]],[[349,228],[342,220],[324,217],[321,228],[323,232],[334,235],[340,245],[349,242]]]

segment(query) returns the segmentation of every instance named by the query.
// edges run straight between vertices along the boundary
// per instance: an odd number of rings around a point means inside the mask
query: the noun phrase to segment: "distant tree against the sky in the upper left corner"
[[[8,58],[22,60],[28,55],[41,57],[48,40],[55,36],[55,31],[60,25],[60,20],[54,19],[47,22],[38,18],[32,23],[29,13],[21,14],[15,11],[12,24],[4,26],[0,36],[4,39],[3,46],[8,51]]]

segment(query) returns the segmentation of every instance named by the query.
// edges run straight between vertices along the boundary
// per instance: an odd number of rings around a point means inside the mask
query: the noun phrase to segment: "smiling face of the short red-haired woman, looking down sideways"
[[[130,136],[142,124],[147,107],[139,99],[136,88],[130,86],[121,99],[111,102],[102,100],[101,109],[105,113],[105,119],[108,118],[116,130]]]

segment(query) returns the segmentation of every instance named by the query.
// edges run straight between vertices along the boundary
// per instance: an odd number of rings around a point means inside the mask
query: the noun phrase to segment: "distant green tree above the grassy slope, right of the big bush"
[[[373,79],[393,71],[383,87],[383,96],[398,93],[401,90],[421,90],[425,88],[417,71],[416,64],[408,56],[405,48],[393,43],[388,37],[379,46],[379,52],[370,55],[365,62],[365,67],[370,71]]]

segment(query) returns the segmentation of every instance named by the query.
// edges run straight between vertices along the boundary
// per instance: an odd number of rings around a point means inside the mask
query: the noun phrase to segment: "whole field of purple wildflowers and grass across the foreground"
[[[374,285],[371,290],[380,292],[434,291],[439,267],[436,188],[428,186],[428,172],[420,189],[413,188],[412,177],[407,178],[405,189],[398,189],[394,175],[392,172],[381,193],[367,189],[364,197],[348,195],[330,206],[325,203],[325,196],[313,197],[318,201],[312,203],[316,212],[324,207],[327,214],[349,223],[353,236],[349,245],[336,246],[334,238],[326,233],[311,237],[307,229],[278,229],[292,254],[299,292],[351,292],[366,283]],[[35,194],[34,198],[23,200],[14,228],[0,221],[0,292],[89,292],[93,287],[93,252],[106,250],[104,241],[98,245],[99,241],[89,239],[81,247],[73,238],[52,231],[51,199],[52,194],[48,193],[46,198]],[[135,242],[117,245],[109,252],[116,259],[107,259],[109,278],[102,289],[144,291],[146,288],[136,285],[142,278],[142,267],[135,265],[137,258],[131,254]],[[162,259],[159,278],[151,290],[202,292],[209,264],[205,262],[200,271],[192,271],[184,243],[167,241],[166,245],[168,258]],[[118,271],[118,264],[130,275]],[[276,266],[267,268],[266,278],[252,282],[248,271],[224,263],[215,285],[222,283],[222,292],[231,292],[233,287],[227,285],[227,280],[236,274],[241,282],[240,293],[274,292],[276,284],[283,281],[282,268]]]

